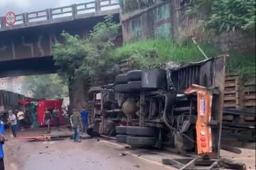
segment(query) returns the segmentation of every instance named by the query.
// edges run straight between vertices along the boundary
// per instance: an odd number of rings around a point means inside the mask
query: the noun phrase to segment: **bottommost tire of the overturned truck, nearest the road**
[[[126,139],[128,145],[134,147],[150,147],[156,143],[155,137],[132,137],[128,136]]]

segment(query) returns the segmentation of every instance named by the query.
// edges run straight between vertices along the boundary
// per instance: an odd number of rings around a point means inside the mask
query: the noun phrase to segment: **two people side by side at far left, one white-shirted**
[[[16,114],[14,114],[13,111],[8,111],[9,118],[8,123],[10,125],[11,133],[14,137],[17,136],[17,129],[21,128],[21,130],[24,130],[24,124],[25,124],[25,113],[23,111],[17,111]]]

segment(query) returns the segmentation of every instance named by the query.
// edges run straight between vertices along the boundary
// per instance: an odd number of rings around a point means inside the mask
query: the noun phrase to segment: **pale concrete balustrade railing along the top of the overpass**
[[[16,15],[16,23],[14,26],[8,26],[4,16],[0,17],[0,32],[115,13],[119,13],[118,0],[94,0],[82,4],[73,4],[71,6],[21,13]]]

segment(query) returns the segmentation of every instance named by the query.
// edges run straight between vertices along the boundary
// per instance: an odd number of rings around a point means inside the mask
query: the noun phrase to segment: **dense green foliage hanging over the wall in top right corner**
[[[205,26],[217,33],[255,31],[255,0],[191,0],[187,13],[206,13]]]

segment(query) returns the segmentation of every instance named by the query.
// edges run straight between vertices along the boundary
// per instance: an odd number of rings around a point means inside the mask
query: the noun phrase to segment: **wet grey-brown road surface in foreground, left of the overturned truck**
[[[35,132],[32,134],[35,135]],[[22,132],[18,135],[31,135]],[[4,145],[5,165],[8,170],[166,170],[132,155],[122,155],[122,149],[95,139],[27,142],[11,140]]]

